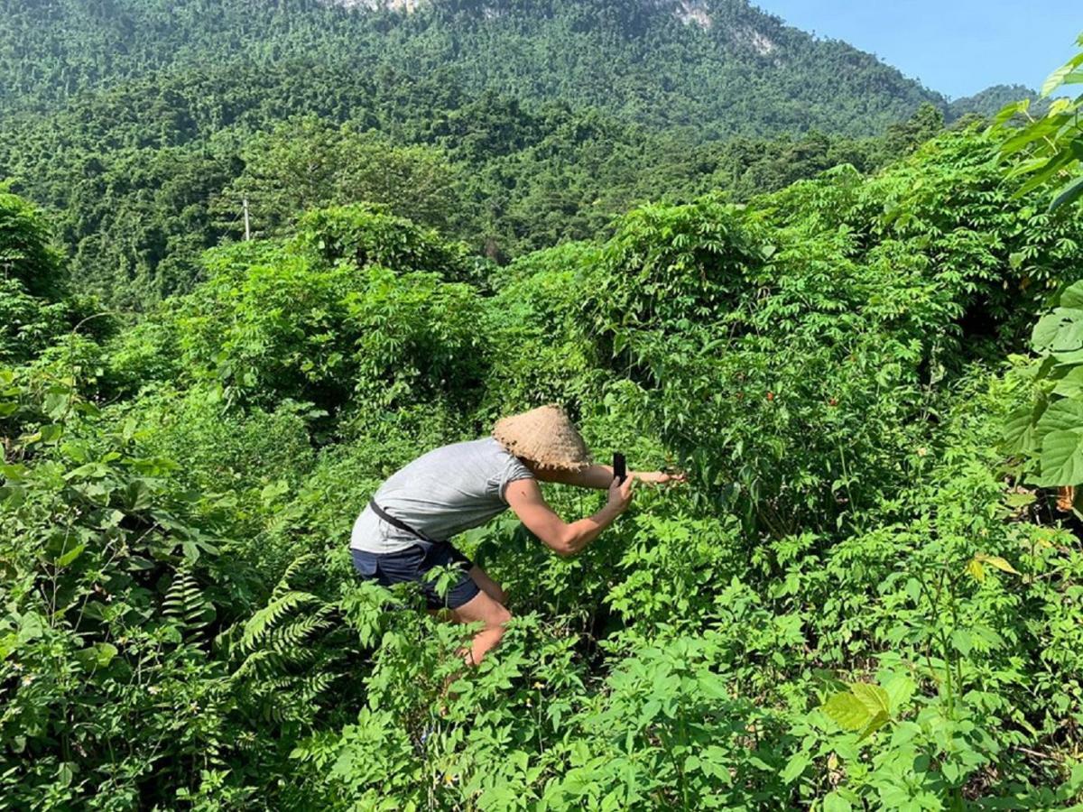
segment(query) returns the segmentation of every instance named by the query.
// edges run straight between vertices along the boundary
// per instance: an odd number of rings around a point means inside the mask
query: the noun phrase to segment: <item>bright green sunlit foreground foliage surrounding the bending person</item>
[[[1083,215],[1017,194],[1003,142],[644,205],[504,266],[389,205],[284,214],[135,325],[84,320],[47,219],[0,197],[27,314],[0,344],[0,804],[1078,803],[1079,525],[1001,436],[1043,396],[1019,353],[1077,304]],[[690,485],[574,559],[467,534],[514,619],[456,675],[468,631],[360,581],[349,529],[416,454],[545,402]]]

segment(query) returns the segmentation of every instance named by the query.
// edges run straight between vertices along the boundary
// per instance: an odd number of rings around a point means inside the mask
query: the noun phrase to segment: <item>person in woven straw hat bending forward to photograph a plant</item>
[[[452,537],[510,508],[554,553],[574,555],[627,509],[637,481],[683,480],[630,471],[618,482],[612,468],[592,464],[563,409],[542,406],[497,421],[491,436],[428,451],[392,474],[357,516],[350,551],[362,577],[384,587],[417,582],[430,613],[447,610],[456,623],[481,623],[465,652],[468,664],[478,664],[511,619],[508,595]],[[546,502],[539,482],[608,488],[609,499],[593,515],[565,522]],[[426,577],[435,567],[458,571],[443,594]]]

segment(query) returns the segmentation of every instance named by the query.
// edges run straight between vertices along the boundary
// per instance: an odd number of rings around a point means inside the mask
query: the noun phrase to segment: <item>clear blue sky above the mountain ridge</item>
[[[821,38],[879,56],[957,99],[990,84],[1039,88],[1075,53],[1080,0],[752,0]]]

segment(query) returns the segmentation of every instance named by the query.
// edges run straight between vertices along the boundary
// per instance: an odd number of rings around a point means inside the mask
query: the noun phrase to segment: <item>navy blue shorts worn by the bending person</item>
[[[433,545],[429,550],[408,547],[400,552],[375,553],[350,549],[354,568],[369,580],[383,587],[413,582],[421,586],[429,608],[458,608],[472,600],[481,588],[470,577],[473,562],[456,550],[449,542]],[[456,567],[460,571],[443,595],[438,594],[434,580],[425,575],[438,566]]]

